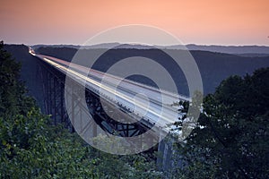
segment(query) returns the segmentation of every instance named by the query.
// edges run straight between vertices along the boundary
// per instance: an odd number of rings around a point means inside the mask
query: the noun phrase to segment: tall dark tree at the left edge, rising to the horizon
[[[33,100],[23,95],[26,92],[19,81],[21,64],[15,62],[0,42],[0,115],[26,114]]]

